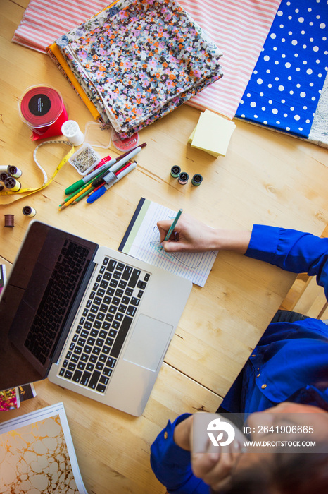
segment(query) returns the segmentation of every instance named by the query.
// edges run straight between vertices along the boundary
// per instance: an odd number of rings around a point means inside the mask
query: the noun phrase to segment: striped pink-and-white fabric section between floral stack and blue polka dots
[[[267,38],[280,0],[179,0],[222,50],[223,77],[189,100],[234,117]]]

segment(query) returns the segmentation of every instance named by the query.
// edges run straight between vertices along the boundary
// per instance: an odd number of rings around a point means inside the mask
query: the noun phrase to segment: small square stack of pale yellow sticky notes
[[[225,156],[235,127],[234,122],[224,119],[210,110],[205,110],[199,116],[196,128],[189,137],[188,143],[216,158]]]

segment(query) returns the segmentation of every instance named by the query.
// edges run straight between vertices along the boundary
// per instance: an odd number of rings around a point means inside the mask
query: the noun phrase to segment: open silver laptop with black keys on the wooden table
[[[191,286],[31,222],[0,299],[0,390],[48,376],[141,415]]]

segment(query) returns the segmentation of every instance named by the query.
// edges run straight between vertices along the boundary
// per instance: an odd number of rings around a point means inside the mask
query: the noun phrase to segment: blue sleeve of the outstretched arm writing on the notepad
[[[328,239],[293,229],[255,224],[246,254],[291,272],[317,277],[328,300]]]

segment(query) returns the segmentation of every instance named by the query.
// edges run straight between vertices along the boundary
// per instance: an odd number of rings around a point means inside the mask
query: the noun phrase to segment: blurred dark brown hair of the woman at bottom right
[[[322,452],[276,453],[250,469],[236,471],[224,494],[327,494],[327,443]]]

